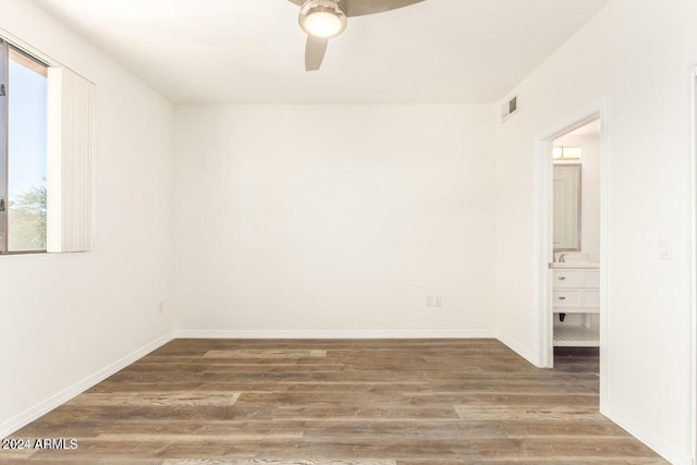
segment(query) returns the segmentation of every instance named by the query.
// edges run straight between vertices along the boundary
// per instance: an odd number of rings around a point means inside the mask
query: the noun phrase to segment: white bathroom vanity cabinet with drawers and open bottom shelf
[[[554,345],[565,347],[598,347],[600,334],[600,270],[597,268],[563,268],[552,270],[552,311]],[[578,315],[580,314],[580,315]],[[560,315],[566,316],[559,322]],[[573,317],[574,315],[577,315]]]

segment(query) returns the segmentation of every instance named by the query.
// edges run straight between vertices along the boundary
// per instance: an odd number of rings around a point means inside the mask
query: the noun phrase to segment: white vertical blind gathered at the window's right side
[[[95,85],[48,70],[47,250],[87,252],[95,242]]]

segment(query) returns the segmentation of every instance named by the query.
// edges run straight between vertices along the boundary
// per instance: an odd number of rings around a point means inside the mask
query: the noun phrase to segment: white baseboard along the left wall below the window
[[[168,334],[158,338],[157,340],[150,342],[149,344],[144,345],[143,347],[132,352],[125,357],[114,362],[113,364],[100,369],[94,375],[88,376],[82,381],[76,382],[70,388],[59,392],[56,395],[50,396],[49,399],[36,404],[35,406],[22,412],[20,415],[14,418],[10,418],[9,420],[0,424],[0,438],[7,438],[12,435],[14,431],[23,428],[35,419],[46,415],[53,408],[64,404],[70,401],[77,394],[86,391],[87,389],[94,387],[95,384],[103,381],[109,378],[111,375],[118,372],[119,370],[127,367],[137,359],[144,357],[156,348],[167,344],[174,336],[174,333],[170,332]]]

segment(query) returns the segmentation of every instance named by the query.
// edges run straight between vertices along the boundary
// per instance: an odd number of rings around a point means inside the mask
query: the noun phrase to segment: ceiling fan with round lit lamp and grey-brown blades
[[[298,23],[307,34],[305,70],[322,64],[329,39],[346,28],[346,19],[381,13],[424,0],[289,0],[301,8]]]

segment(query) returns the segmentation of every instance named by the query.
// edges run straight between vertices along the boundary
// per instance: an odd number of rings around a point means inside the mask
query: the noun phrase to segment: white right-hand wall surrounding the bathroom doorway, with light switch
[[[607,102],[608,345],[602,412],[674,463],[690,456],[689,0],[615,0],[517,88],[498,134],[498,327],[535,359],[534,142]],[[515,232],[513,234],[513,232]],[[657,241],[672,245],[658,259]]]

